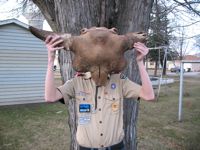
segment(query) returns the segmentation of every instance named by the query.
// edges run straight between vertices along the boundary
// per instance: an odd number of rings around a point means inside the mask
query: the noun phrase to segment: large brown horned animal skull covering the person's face
[[[64,40],[66,50],[74,53],[73,68],[78,72],[91,72],[96,85],[105,85],[108,74],[122,71],[126,66],[124,52],[132,49],[135,42],[145,42],[144,32],[118,35],[117,29],[105,27],[84,28],[79,36],[53,33],[29,28],[36,37],[45,40],[48,35],[58,34]]]

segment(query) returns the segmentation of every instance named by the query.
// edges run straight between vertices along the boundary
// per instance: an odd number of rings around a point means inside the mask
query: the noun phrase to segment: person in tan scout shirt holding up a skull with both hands
[[[108,76],[106,86],[96,86],[89,72],[55,87],[53,62],[55,51],[63,40],[59,36],[46,39],[48,68],[45,80],[45,100],[55,102],[74,98],[77,105],[78,127],[76,133],[80,150],[124,150],[123,98],[153,100],[154,92],[143,64],[148,48],[142,43],[133,46],[137,51],[137,64],[142,85],[138,85],[121,74]]]

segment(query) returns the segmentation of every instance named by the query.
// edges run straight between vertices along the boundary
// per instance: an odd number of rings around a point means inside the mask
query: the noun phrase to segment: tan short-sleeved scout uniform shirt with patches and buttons
[[[141,86],[112,74],[106,86],[96,89],[92,79],[75,77],[58,87],[64,100],[75,98],[78,115],[76,139],[91,148],[108,147],[121,142],[123,131],[123,98],[137,98]],[[95,97],[97,104],[95,109]],[[90,105],[90,112],[79,112]],[[81,107],[82,108],[82,107]],[[85,108],[87,111],[88,107]]]

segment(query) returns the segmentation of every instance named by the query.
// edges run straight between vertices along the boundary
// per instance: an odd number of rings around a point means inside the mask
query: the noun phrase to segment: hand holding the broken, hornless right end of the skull
[[[137,53],[137,57],[136,57],[137,62],[143,61],[144,57],[148,54],[149,49],[143,43],[140,43],[140,42],[134,43],[133,46],[134,46],[135,50],[137,51],[136,52]]]

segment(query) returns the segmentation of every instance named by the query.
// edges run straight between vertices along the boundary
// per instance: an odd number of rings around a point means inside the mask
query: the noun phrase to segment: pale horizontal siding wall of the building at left
[[[0,105],[44,102],[47,50],[16,24],[0,26]]]

